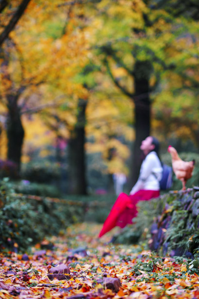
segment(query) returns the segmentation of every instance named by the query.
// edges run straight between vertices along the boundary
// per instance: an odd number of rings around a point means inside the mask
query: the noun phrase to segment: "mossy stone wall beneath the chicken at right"
[[[166,204],[152,224],[150,249],[161,255],[193,258],[199,252],[199,187],[162,197]]]

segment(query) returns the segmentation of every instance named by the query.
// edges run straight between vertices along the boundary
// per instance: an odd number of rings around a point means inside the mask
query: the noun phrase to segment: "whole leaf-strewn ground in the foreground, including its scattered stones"
[[[1,253],[0,298],[199,298],[197,261],[99,240],[100,227],[76,224],[32,254]]]

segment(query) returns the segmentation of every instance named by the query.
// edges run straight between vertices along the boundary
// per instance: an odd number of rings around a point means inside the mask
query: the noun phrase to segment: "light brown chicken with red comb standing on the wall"
[[[192,172],[194,170],[195,160],[185,162],[182,161],[178,155],[176,149],[172,146],[168,147],[168,152],[171,154],[172,168],[177,177],[182,182],[182,190],[186,190],[186,182],[192,177]]]

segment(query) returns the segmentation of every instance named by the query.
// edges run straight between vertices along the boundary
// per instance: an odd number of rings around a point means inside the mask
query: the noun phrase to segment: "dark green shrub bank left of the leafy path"
[[[0,187],[0,246],[26,250],[47,235],[76,221],[83,221],[85,204],[66,200],[15,194],[4,179]]]

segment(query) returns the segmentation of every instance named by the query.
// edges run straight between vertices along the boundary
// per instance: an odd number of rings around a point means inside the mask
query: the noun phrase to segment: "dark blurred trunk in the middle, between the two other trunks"
[[[85,163],[85,111],[87,101],[80,99],[78,104],[77,124],[68,144],[69,151],[69,192],[87,194]]]

